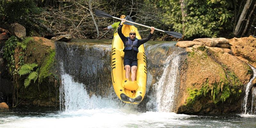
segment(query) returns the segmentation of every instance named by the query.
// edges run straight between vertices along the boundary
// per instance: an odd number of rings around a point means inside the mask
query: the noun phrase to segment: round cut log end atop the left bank
[[[11,24],[10,31],[12,35],[18,38],[23,38],[26,36],[26,28],[18,23]]]

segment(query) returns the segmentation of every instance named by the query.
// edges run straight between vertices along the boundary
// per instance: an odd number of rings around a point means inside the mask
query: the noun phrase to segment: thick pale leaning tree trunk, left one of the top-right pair
[[[241,24],[242,24],[243,20],[245,19],[246,13],[250,8],[251,3],[252,3],[251,0],[247,0],[245,5],[244,5],[244,9],[243,9],[243,11],[242,11],[242,13],[239,17],[239,20],[237,21],[237,24],[236,24],[236,28],[235,28],[235,31],[234,31],[235,36],[237,36],[239,34]]]

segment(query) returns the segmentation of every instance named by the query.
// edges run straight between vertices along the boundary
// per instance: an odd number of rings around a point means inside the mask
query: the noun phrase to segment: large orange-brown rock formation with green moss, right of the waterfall
[[[256,60],[255,38],[202,38],[194,41],[203,45],[186,47],[189,52],[187,65],[181,75],[180,102],[175,112],[221,114],[240,111],[243,88],[252,76],[247,63],[253,65]],[[185,46],[182,43],[176,46]],[[256,80],[253,82],[255,84]]]

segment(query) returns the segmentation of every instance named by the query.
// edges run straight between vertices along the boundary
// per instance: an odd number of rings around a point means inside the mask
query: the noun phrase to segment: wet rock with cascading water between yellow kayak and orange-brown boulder
[[[180,90],[180,70],[187,52],[174,45],[175,43],[146,44],[147,94],[140,103],[140,107],[147,108],[146,111],[176,111],[175,107],[180,100],[176,97]],[[177,62],[177,72],[173,70],[173,61]],[[176,93],[169,95],[172,91]]]

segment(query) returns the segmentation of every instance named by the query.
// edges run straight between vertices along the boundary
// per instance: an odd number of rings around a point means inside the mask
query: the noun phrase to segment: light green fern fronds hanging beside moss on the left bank
[[[31,80],[34,80],[34,83],[36,82],[38,78],[38,70],[39,68],[34,71],[34,68],[36,68],[38,65],[36,63],[32,64],[24,64],[21,66],[19,70],[19,74],[21,75],[28,75],[27,78],[24,81],[25,88],[30,84]]]

